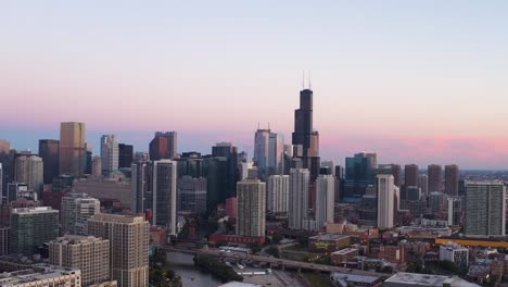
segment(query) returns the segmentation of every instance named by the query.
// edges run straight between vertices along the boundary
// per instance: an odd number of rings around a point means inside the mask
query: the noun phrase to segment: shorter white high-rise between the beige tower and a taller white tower
[[[288,212],[289,175],[271,175],[267,182],[267,211],[274,213]]]

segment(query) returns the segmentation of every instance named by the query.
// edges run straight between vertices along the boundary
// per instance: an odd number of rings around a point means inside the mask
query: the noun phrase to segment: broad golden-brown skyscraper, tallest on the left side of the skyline
[[[81,176],[85,174],[85,123],[61,123],[59,172]]]

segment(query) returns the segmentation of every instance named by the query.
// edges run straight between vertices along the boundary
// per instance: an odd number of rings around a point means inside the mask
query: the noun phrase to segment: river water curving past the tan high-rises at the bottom
[[[185,253],[166,253],[166,266],[181,276],[183,287],[216,287],[223,284],[209,273],[195,269],[192,258],[192,255]]]

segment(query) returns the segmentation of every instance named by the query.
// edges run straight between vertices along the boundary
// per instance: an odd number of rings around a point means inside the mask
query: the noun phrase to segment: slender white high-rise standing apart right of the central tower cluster
[[[378,227],[392,228],[395,213],[395,184],[393,175],[378,174]]]

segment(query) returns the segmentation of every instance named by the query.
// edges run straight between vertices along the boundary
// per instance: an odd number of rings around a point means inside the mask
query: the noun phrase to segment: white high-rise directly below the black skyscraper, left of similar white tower
[[[290,172],[289,227],[302,229],[308,220],[308,194],[310,173],[307,169],[292,169]]]

